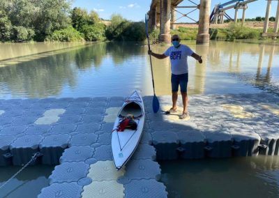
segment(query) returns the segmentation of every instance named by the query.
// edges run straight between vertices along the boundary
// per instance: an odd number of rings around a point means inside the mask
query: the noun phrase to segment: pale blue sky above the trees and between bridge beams
[[[191,0],[199,4],[199,0]],[[229,0],[211,0],[211,10],[218,3],[225,3]],[[271,1],[271,16],[276,16],[277,3],[279,1]],[[85,8],[86,10],[95,10],[98,15],[105,19],[110,20],[112,14],[120,14],[126,20],[131,21],[143,21],[144,15],[149,11],[151,0],[74,0],[73,8],[80,7]],[[179,6],[194,6],[195,4],[190,1],[184,0]],[[233,4],[232,4],[233,5]],[[186,14],[189,13],[190,8],[179,8],[180,13]],[[181,17],[180,13],[176,14],[176,18]],[[246,18],[255,18],[255,17],[265,17],[266,13],[266,1],[258,0],[252,3],[248,3],[248,10],[246,10]],[[234,9],[227,10],[227,14],[234,18]],[[242,10],[239,10],[239,18],[242,16]],[[193,13],[189,14],[189,17],[194,20],[198,20],[199,12],[195,10]],[[176,22],[193,22],[186,17],[181,17],[180,20]]]

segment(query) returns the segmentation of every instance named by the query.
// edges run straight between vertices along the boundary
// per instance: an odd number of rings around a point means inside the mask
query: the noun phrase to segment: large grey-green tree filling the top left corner
[[[70,0],[0,0],[0,10],[13,26],[33,29],[36,40],[43,41],[53,31],[70,24]],[[16,31],[19,29],[15,29]],[[30,32],[31,33],[31,32]]]

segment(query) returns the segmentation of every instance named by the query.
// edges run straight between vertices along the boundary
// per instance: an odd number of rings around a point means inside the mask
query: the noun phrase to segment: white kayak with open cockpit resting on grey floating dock
[[[119,130],[119,123],[123,122],[127,116],[133,115],[133,123],[137,123],[137,129],[125,128]],[[117,170],[121,169],[135,152],[142,137],[144,128],[144,103],[138,91],[126,99],[119,114],[116,117],[112,130],[112,155],[114,165]]]

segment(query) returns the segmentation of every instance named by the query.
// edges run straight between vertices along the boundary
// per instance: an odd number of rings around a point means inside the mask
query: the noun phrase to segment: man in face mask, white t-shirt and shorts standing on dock
[[[183,102],[183,112],[179,119],[186,119],[188,114],[188,96],[187,96],[187,85],[188,85],[188,62],[187,57],[192,56],[194,59],[202,63],[202,56],[195,54],[190,47],[187,45],[180,44],[180,38],[178,35],[172,36],[172,47],[169,47],[164,54],[156,54],[149,50],[148,54],[156,57],[157,59],[165,59],[169,56],[172,70],[172,108],[170,108],[166,114],[176,112],[176,102],[178,98],[178,91],[180,85],[180,91]]]

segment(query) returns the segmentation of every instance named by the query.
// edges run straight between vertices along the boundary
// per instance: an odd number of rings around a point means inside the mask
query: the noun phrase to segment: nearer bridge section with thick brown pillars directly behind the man
[[[160,26],[160,41],[171,43],[170,29],[174,29],[176,21],[176,8],[199,9],[199,30],[197,33],[197,44],[209,44],[209,16],[211,0],[200,0],[199,5],[178,6],[183,0],[152,0],[149,15],[149,26],[151,29]],[[183,15],[188,17],[187,14]]]

